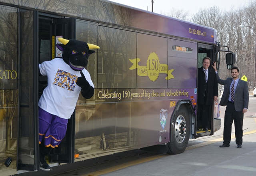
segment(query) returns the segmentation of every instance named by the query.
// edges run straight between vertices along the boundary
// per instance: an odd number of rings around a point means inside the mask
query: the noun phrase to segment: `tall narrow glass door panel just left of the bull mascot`
[[[38,47],[36,45],[38,12],[19,10],[18,20],[18,170],[39,170],[38,144]],[[37,67],[36,67],[37,65]],[[37,133],[37,134],[36,134]],[[36,135],[35,135],[36,134]]]

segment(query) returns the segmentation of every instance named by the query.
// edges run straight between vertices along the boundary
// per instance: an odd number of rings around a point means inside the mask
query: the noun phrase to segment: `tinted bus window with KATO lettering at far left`
[[[17,89],[17,8],[0,6],[0,89]]]

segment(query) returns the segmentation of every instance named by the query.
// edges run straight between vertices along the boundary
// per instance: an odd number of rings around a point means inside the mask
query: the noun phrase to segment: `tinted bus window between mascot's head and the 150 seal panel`
[[[136,33],[99,26],[98,88],[135,88],[136,70],[129,59],[136,58]]]

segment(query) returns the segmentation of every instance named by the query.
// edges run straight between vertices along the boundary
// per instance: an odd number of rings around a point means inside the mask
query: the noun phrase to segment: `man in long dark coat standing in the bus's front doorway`
[[[202,67],[198,68],[198,118],[197,130],[202,126],[203,131],[208,131],[211,117],[211,106],[218,97],[218,83],[216,73],[210,69],[210,57],[204,57]]]

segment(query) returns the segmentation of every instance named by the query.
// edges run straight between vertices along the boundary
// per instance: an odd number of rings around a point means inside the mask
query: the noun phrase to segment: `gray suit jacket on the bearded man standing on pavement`
[[[229,77],[226,80],[220,79],[219,75],[216,74],[218,83],[224,85],[224,91],[220,100],[221,106],[226,106],[228,103],[228,97],[230,95],[230,85],[232,83],[233,78]],[[243,111],[244,108],[248,109],[249,105],[249,90],[246,81],[239,79],[238,84],[236,86],[236,91],[234,95],[234,105],[236,111]]]

